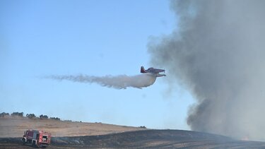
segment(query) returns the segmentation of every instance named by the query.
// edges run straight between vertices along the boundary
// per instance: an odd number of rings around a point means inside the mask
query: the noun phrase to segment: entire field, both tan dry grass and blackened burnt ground
[[[196,131],[27,118],[0,119],[0,148],[33,148],[21,145],[20,137],[26,129],[52,132],[49,148],[265,148],[264,142],[237,141]]]

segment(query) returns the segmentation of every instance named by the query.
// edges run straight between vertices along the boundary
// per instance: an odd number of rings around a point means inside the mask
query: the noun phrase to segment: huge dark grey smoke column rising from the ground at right
[[[148,44],[196,98],[195,131],[265,141],[265,1],[172,1],[178,28]]]

